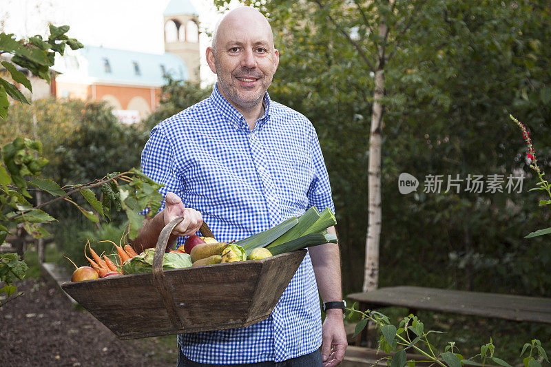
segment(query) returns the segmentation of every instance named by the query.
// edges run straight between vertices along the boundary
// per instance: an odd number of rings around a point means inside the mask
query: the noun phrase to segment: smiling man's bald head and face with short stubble
[[[218,76],[222,96],[243,111],[262,103],[278,67],[279,54],[273,48],[267,21],[260,14],[245,11],[229,14],[220,24],[216,55],[210,49],[207,61]]]

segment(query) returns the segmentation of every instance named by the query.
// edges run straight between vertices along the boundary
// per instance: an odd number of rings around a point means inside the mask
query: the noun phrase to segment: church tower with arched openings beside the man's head
[[[189,0],[170,0],[165,12],[165,52],[180,57],[189,81],[199,82],[200,49],[198,12]]]

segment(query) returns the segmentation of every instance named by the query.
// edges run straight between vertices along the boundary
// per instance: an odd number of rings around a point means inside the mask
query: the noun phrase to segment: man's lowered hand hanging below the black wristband
[[[348,342],[342,321],[340,309],[327,310],[322,328],[322,361],[323,367],[337,366],[344,358],[344,351]]]

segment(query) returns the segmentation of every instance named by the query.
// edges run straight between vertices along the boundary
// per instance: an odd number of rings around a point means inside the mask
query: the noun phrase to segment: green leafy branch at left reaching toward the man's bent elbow
[[[41,143],[23,138],[16,138],[12,143],[5,145],[0,151],[0,243],[6,240],[10,227],[21,225],[34,238],[49,235],[43,224],[54,222],[56,219],[41,208],[59,200],[65,200],[76,206],[83,215],[98,222],[99,218],[110,220],[113,211],[125,211],[129,222],[129,237],[135,238],[138,229],[143,224],[140,211],[147,211],[152,216],[160,207],[163,197],[158,193],[161,187],[139,169],[130,169],[123,173],[113,173],[101,180],[62,188],[56,182],[38,176],[41,169],[48,163],[40,156]],[[29,185],[56,196],[43,204],[33,206],[28,200]],[[101,197],[98,199],[92,189],[99,187]],[[80,193],[90,209],[79,205],[74,195]],[[95,211],[95,213],[94,213]],[[17,291],[13,286],[15,279],[22,280],[27,270],[25,262],[19,260],[15,253],[3,254],[0,258],[0,282],[6,285],[0,293],[10,295]],[[6,301],[7,302],[7,301]],[[1,303],[0,303],[1,305]]]

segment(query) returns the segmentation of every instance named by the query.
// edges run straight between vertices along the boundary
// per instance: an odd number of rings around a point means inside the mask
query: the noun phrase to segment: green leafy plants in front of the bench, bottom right
[[[413,367],[417,362],[428,362],[441,367],[486,366],[488,363],[512,367],[503,359],[495,357],[495,346],[491,338],[488,344],[481,346],[479,354],[467,359],[459,353],[455,342],[449,342],[443,352],[439,351],[436,346],[430,343],[428,335],[432,333],[443,334],[443,332],[425,331],[423,322],[415,315],[410,314],[404,317],[396,327],[386,315],[377,311],[359,311],[356,307],[357,304],[354,304],[352,308],[347,308],[349,318],[355,314],[360,315],[360,322],[356,324],[353,337],[363,331],[368,322],[373,322],[379,335],[377,350],[383,350],[386,353],[386,356],[382,359],[386,359],[390,367],[406,365]],[[541,367],[541,361],[549,362],[548,356],[538,339],[534,339],[531,344],[527,343],[523,346],[521,357],[525,355],[528,348],[530,348],[528,356],[523,359],[525,367]],[[415,350],[416,356],[422,358],[408,359],[406,354],[408,349]],[[395,352],[394,355],[391,355],[392,352]],[[477,359],[480,361],[477,361]]]

